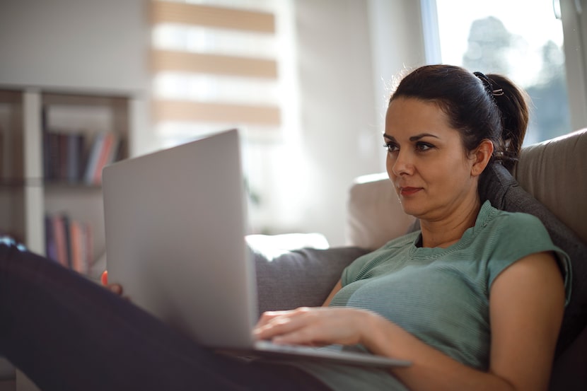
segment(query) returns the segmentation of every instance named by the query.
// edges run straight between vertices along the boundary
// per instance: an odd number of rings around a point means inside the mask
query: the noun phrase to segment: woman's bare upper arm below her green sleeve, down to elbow
[[[547,390],[564,313],[564,281],[554,255],[516,262],[490,294],[491,369],[518,390]]]

